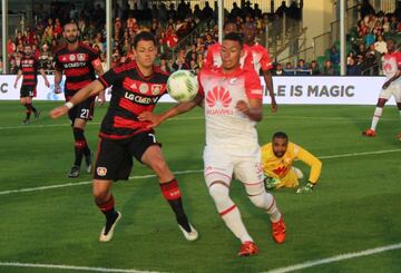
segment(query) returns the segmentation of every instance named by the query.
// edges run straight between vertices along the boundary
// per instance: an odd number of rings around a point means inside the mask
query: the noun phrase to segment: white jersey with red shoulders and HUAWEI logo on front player
[[[262,100],[255,70],[238,68],[224,74],[222,68],[204,68],[198,79],[199,92],[205,98],[206,145],[238,147],[245,153],[258,147],[256,123],[235,108],[238,100]]]

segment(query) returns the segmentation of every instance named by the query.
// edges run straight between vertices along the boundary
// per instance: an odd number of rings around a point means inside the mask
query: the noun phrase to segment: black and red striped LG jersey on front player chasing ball
[[[110,105],[101,123],[100,137],[123,139],[141,131],[149,123],[138,120],[143,111],[153,111],[167,90],[168,74],[154,68],[153,75],[145,77],[135,61],[108,70],[98,80],[107,88],[113,86]]]

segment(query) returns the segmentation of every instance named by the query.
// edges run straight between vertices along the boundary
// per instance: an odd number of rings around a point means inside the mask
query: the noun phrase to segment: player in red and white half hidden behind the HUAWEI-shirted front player
[[[252,64],[256,74],[260,75],[262,69],[264,80],[266,82],[266,88],[271,97],[271,107],[272,111],[277,111],[277,104],[275,101],[274,90],[273,90],[273,78],[271,69],[273,69],[272,59],[263,46],[256,42],[256,26],[253,22],[245,23],[244,28],[244,42],[248,46],[248,49],[252,55]]]

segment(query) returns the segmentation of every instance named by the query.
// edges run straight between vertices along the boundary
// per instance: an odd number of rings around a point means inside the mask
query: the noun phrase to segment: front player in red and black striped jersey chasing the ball
[[[99,241],[111,240],[116,223],[121,216],[115,209],[111,183],[128,179],[133,156],[155,172],[179,228],[186,240],[194,241],[198,234],[184,212],[178,183],[164,159],[155,131],[149,128],[150,123],[138,120],[139,114],[153,111],[159,98],[166,94],[168,75],[154,67],[157,55],[155,37],[147,31],[136,35],[134,53],[136,61],[110,69],[79,90],[65,106],[53,109],[50,116],[60,117],[80,101],[113,86],[110,105],[101,123],[95,165],[95,203],[106,216]]]

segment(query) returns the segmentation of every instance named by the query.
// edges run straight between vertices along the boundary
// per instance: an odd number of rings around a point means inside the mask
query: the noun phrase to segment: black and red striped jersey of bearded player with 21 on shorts
[[[67,45],[55,52],[55,68],[66,75],[65,95],[67,100],[79,89],[96,79],[95,66],[100,65],[99,53],[91,47],[79,42],[75,50]]]

